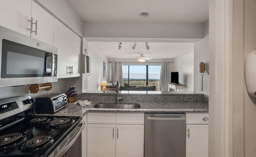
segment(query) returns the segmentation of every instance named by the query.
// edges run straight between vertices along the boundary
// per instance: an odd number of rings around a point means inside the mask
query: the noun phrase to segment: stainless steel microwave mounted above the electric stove
[[[2,26],[0,40],[0,87],[58,81],[58,48]]]

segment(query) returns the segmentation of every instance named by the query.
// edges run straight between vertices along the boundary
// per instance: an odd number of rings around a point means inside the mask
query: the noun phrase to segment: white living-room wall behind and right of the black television
[[[194,52],[174,58],[172,72],[179,72],[185,91],[194,91]]]

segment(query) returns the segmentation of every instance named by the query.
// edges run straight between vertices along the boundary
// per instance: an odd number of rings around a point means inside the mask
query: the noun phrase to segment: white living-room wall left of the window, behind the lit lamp
[[[108,79],[108,58],[102,54],[98,49],[96,49],[90,42],[88,42],[87,49],[88,56],[91,57],[91,72],[87,75],[87,89],[92,90],[101,90],[100,83],[102,80]],[[103,61],[106,64],[106,77],[103,78]],[[83,80],[83,83],[84,80]]]

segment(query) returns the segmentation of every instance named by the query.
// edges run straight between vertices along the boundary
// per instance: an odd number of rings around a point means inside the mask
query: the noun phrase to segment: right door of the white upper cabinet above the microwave
[[[39,6],[36,2],[32,1],[32,15],[33,24],[31,37],[47,44],[53,45],[53,30],[54,30],[54,17]]]

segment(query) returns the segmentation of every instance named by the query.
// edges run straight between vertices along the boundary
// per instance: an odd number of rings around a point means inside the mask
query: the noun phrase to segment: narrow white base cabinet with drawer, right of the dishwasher
[[[208,113],[187,113],[186,129],[186,157],[208,157]]]

